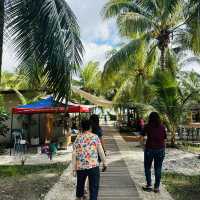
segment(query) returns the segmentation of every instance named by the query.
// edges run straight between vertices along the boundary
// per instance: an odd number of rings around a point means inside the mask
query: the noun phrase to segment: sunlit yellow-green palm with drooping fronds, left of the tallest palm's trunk
[[[106,62],[102,79],[107,87],[117,84],[115,103],[122,101],[121,97],[125,96],[127,101],[127,95],[135,103],[145,102],[148,93],[146,81],[152,77],[158,65],[156,51],[156,48],[148,47],[145,41],[132,40]]]

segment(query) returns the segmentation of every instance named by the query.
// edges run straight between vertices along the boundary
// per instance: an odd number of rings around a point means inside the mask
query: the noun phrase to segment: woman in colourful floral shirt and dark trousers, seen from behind
[[[77,174],[76,197],[80,200],[83,198],[88,177],[90,200],[97,200],[100,181],[98,154],[103,170],[106,169],[106,158],[98,136],[89,131],[89,120],[83,120],[81,127],[83,133],[77,136],[72,154],[73,172]]]

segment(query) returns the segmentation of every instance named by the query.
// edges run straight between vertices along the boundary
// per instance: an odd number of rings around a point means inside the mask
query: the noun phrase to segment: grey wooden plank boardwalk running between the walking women
[[[111,127],[106,127],[104,133],[106,133],[106,150],[109,152],[108,170],[101,173],[98,200],[141,200],[128,168],[121,158],[119,148],[112,137],[114,131]]]

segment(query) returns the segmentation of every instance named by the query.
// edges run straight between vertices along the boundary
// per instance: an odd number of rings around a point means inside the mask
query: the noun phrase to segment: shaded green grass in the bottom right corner
[[[200,175],[186,176],[177,173],[164,173],[163,183],[175,200],[200,199]]]

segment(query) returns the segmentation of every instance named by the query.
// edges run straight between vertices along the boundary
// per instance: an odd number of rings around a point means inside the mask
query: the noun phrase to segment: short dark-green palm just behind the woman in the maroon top
[[[176,131],[183,113],[187,111],[187,103],[193,95],[199,93],[199,88],[186,92],[170,71],[159,69],[150,83],[156,91],[151,105],[162,114],[171,133],[171,145],[174,146]]]

